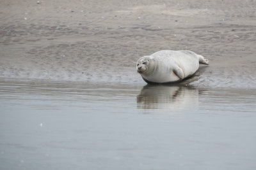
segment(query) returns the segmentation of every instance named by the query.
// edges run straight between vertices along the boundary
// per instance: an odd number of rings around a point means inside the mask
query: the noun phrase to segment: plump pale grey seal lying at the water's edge
[[[168,83],[193,75],[200,64],[209,64],[202,55],[191,51],[163,50],[141,57],[137,71],[147,83]]]

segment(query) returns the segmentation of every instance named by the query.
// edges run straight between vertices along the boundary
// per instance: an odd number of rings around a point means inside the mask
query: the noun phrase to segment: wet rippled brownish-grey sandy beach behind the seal
[[[143,83],[136,60],[192,50],[193,85],[255,88],[254,1],[3,1],[1,78]]]

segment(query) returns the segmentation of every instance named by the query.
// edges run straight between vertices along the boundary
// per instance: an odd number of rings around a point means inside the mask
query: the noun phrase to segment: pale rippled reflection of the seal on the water
[[[139,109],[186,110],[197,106],[199,91],[195,87],[146,85],[137,96]]]

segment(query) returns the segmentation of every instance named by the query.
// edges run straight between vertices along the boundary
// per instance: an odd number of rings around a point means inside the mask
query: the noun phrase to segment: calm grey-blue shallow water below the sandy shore
[[[254,169],[255,90],[0,82],[0,169]]]

